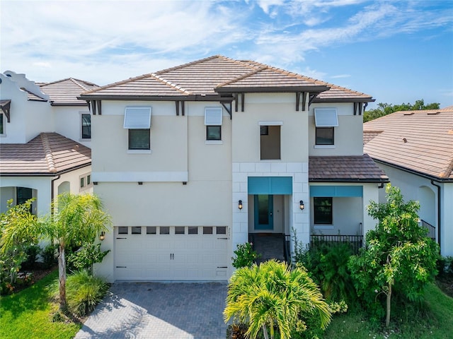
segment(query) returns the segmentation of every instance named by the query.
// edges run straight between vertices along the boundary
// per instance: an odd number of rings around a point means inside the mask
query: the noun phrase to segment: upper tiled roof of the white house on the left
[[[85,106],[86,102],[77,100],[77,97],[87,90],[98,88],[94,83],[74,78],[67,78],[52,83],[40,85],[42,93],[50,96],[52,105],[80,105]]]

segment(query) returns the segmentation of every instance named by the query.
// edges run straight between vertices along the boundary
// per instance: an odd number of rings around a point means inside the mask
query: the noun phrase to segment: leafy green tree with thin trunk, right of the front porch
[[[411,302],[423,300],[423,289],[433,280],[439,246],[418,225],[417,201],[403,201],[397,187],[386,188],[387,203],[371,201],[368,214],[379,220],[376,229],[366,234],[367,248],[350,258],[349,267],[357,294],[365,307],[390,323],[391,295],[403,294]]]

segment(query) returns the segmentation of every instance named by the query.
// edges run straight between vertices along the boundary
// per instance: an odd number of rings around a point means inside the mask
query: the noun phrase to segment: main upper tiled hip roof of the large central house
[[[330,85],[297,73],[277,69],[256,61],[239,61],[214,55],[188,64],[144,74],[82,93],[81,99],[102,97],[190,97],[218,95],[222,92],[303,91],[321,93],[335,87],[326,101],[374,101],[369,95]]]

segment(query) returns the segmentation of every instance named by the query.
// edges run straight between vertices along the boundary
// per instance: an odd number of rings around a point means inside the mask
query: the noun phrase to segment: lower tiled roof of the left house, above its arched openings
[[[57,175],[91,165],[91,149],[58,133],[0,144],[0,175]]]

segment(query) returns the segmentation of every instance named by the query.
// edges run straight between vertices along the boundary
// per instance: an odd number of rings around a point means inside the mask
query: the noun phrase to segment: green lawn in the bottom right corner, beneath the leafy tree
[[[453,298],[447,297],[436,285],[425,291],[428,311],[417,319],[394,319],[388,330],[373,328],[360,313],[334,316],[324,338],[375,339],[445,339],[453,338]],[[396,317],[395,317],[396,318]]]

